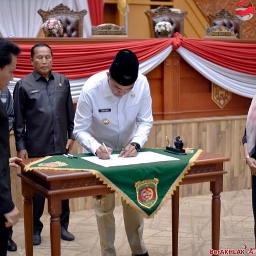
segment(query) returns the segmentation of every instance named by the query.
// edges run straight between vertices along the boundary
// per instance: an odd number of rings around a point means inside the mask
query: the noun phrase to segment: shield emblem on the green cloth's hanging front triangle
[[[151,180],[137,181],[135,183],[137,201],[140,205],[150,209],[155,205],[158,199],[157,185],[159,180],[154,178]]]

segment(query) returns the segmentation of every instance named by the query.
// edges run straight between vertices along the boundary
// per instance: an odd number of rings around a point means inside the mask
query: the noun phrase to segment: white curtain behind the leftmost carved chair
[[[91,18],[87,0],[1,0],[0,32],[3,37],[37,37],[42,25],[37,10],[53,9],[59,4],[88,13],[83,17],[83,37],[91,35]]]

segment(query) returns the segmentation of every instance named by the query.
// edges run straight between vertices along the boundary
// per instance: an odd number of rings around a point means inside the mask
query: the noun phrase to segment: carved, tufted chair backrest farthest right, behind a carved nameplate
[[[242,37],[242,20],[230,14],[225,9],[220,10],[215,15],[208,14],[207,19],[210,27],[224,26],[234,31],[237,38]]]

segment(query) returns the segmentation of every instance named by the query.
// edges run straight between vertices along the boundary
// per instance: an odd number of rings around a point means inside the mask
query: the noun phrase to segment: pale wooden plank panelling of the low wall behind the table
[[[184,147],[201,148],[230,158],[224,163],[227,174],[224,176],[224,191],[250,188],[250,172],[243,161],[242,137],[245,130],[246,115],[224,116],[210,118],[191,118],[177,120],[155,121],[148,141],[144,147],[165,147],[165,135],[169,140],[176,136],[184,142]],[[11,154],[16,155],[14,136],[11,134]],[[73,153],[81,153],[82,148],[75,142]],[[23,216],[23,198],[20,179],[17,173],[20,169],[11,168],[12,195]],[[180,196],[206,195],[209,193],[209,183],[185,185],[180,188]],[[72,211],[92,208],[92,199],[78,198],[70,200]],[[47,214],[47,208],[45,208]]]

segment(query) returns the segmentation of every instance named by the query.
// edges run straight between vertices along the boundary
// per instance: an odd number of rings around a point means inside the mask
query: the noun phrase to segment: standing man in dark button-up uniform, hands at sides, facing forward
[[[20,79],[14,88],[14,136],[18,157],[45,157],[71,153],[74,136],[74,105],[66,76],[51,71],[53,56],[50,46],[39,43],[31,48],[34,71]],[[68,136],[67,136],[68,135]],[[33,244],[41,243],[45,198],[34,193]],[[69,200],[62,201],[61,239],[75,237],[68,231]]]

